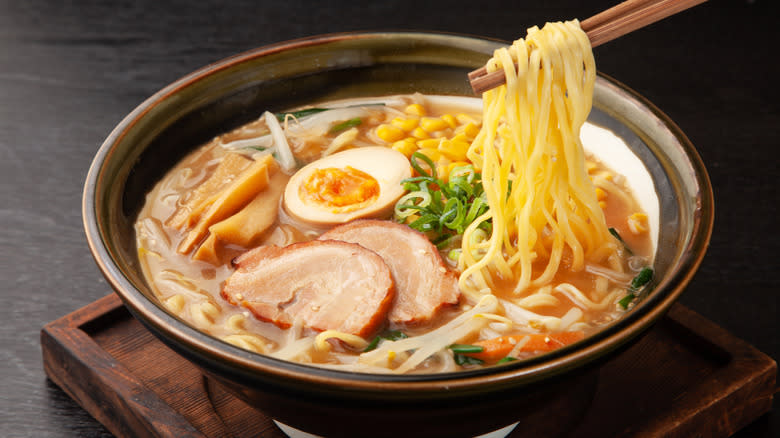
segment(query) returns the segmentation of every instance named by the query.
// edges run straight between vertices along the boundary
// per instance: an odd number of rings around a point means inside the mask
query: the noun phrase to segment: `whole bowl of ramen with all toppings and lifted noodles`
[[[334,34],[204,67],[97,152],[90,249],[136,318],[290,435],[563,432],[713,222],[693,146],[583,35]],[[486,62],[530,67],[475,97]]]

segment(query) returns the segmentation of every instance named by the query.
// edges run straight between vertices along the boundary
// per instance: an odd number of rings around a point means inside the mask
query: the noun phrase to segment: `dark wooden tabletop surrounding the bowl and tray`
[[[313,34],[381,29],[515,39],[613,1],[0,0],[0,436],[108,436],[44,375],[41,327],[109,292],[87,249],[93,154],[144,98],[209,62]],[[226,3],[220,6],[222,3]],[[715,231],[682,302],[780,358],[780,42],[770,0],[712,0],[596,49],[669,114],[710,172]],[[771,412],[738,434],[780,436]]]

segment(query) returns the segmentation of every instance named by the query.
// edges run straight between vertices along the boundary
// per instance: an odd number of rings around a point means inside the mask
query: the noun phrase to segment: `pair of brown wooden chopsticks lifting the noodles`
[[[581,21],[580,27],[588,35],[591,47],[597,47],[705,1],[707,0],[626,0]],[[468,77],[476,94],[482,94],[506,82],[502,70],[488,73],[484,66],[470,72]]]

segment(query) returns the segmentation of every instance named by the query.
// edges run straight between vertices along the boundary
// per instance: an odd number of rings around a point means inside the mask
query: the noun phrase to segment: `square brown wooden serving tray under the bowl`
[[[115,435],[285,437],[114,294],[47,324],[41,345],[49,378]],[[603,366],[571,436],[729,436],[771,409],[776,376],[771,358],[677,304]]]

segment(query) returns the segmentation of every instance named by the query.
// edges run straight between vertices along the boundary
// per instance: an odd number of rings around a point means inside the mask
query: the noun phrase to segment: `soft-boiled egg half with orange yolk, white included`
[[[409,160],[382,146],[348,149],[296,172],[284,191],[284,208],[294,219],[320,227],[353,219],[386,217],[412,176]]]

